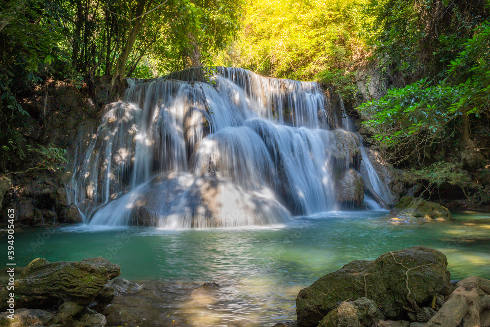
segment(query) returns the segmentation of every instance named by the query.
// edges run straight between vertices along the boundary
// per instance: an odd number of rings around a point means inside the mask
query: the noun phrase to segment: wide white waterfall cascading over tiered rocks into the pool
[[[218,67],[129,85],[68,185],[86,223],[279,224],[339,208],[335,176],[359,175],[355,135],[319,128],[317,83]]]

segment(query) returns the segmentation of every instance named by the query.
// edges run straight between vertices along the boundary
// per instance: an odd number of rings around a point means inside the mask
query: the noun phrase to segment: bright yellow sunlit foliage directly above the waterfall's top
[[[311,80],[345,69],[363,47],[357,35],[365,0],[249,2],[238,40],[216,64],[263,75]]]

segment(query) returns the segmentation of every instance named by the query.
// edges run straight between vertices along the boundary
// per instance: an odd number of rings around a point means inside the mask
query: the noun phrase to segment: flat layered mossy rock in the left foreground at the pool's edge
[[[120,267],[98,257],[75,262],[35,259],[15,281],[15,307],[51,309],[61,302],[88,305],[108,280],[121,275]],[[7,309],[8,291],[0,288],[0,311]]]

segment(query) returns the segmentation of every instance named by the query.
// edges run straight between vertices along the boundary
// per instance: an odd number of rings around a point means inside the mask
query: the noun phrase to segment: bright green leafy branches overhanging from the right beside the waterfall
[[[399,159],[401,148],[420,151],[443,141],[456,132],[460,117],[490,116],[489,36],[488,24],[475,28],[442,81],[434,83],[426,77],[358,107],[371,117],[364,124],[374,142],[389,150],[391,159]]]

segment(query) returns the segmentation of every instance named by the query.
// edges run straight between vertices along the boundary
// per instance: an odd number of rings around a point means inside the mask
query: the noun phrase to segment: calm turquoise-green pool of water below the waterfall
[[[424,245],[443,252],[452,279],[490,278],[490,214],[391,225],[386,211],[327,212],[284,226],[160,230],[85,225],[16,235],[17,264],[103,256],[143,284],[116,298],[109,326],[271,326],[295,318],[303,287],[355,259]],[[4,242],[2,242],[4,243]],[[221,287],[196,289],[205,281]]]

